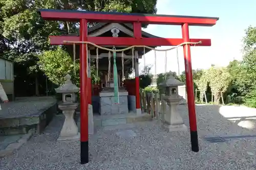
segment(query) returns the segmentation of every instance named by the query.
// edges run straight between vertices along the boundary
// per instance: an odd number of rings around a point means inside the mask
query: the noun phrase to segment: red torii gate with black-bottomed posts
[[[64,41],[89,41],[97,45],[147,45],[147,46],[176,46],[182,42],[199,42],[197,46],[210,46],[210,39],[189,39],[188,26],[214,26],[219,20],[217,17],[199,17],[199,16],[179,16],[179,15],[153,15],[153,14],[135,14],[135,13],[116,13],[116,12],[91,12],[77,10],[38,10],[41,17],[46,20],[63,20],[80,22],[80,36],[50,36],[52,45],[63,45]],[[88,37],[88,22],[130,22],[133,23],[134,37]],[[157,25],[180,25],[182,29],[182,38],[143,38],[141,35],[141,23]],[[193,73],[191,67],[190,44],[183,45],[187,104],[190,125],[191,150],[199,151],[197,120],[195,111]],[[91,86],[89,84],[87,67],[86,44],[80,44],[80,147],[81,164],[89,162],[88,146],[88,104],[91,104]],[[136,93],[139,93],[139,79],[136,77]],[[138,101],[137,101],[138,100]],[[136,104],[140,105],[139,98],[136,98]],[[139,107],[140,108],[140,107]]]

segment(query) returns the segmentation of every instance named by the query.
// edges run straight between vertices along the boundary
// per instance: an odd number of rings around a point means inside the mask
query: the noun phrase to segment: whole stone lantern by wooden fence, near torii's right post
[[[165,88],[165,96],[163,96],[162,99],[166,101],[169,106],[169,109],[166,110],[164,115],[163,127],[169,132],[187,130],[177,110],[177,106],[183,99],[183,97],[178,94],[178,86],[182,85],[184,85],[184,83],[175,79],[173,76],[169,76],[164,83],[160,84],[160,86]]]

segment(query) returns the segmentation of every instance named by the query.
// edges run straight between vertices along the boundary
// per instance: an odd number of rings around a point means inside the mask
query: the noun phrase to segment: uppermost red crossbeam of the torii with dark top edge
[[[42,18],[48,20],[78,21],[79,19],[87,19],[89,21],[96,22],[104,20],[106,22],[141,22],[158,25],[182,25],[183,23],[189,23],[189,26],[214,26],[217,20],[219,20],[218,17],[205,16],[158,15],[81,10],[39,9],[38,12]]]

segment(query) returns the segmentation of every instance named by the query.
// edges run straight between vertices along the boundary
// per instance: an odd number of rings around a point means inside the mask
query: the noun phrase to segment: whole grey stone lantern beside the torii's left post
[[[58,141],[74,141],[80,139],[80,134],[74,120],[75,109],[78,107],[76,103],[75,93],[77,93],[80,88],[76,87],[71,81],[71,76],[65,76],[65,83],[55,88],[57,93],[62,93],[62,102],[58,104],[60,110],[65,115],[65,122],[60,131]]]

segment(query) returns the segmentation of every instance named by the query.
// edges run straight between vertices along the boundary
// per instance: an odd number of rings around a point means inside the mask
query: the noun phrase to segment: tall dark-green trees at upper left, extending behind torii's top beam
[[[154,14],[156,2],[156,0],[0,0],[0,56],[14,60],[14,74],[19,78],[15,81],[24,82],[28,77],[34,77],[34,81],[26,81],[29,85],[37,82],[38,75],[44,74],[39,69],[38,56],[46,51],[52,53],[56,48],[49,44],[49,35],[77,33],[79,29],[77,22],[44,21],[36,12],[37,9],[116,10]]]

